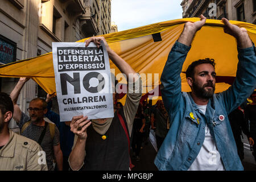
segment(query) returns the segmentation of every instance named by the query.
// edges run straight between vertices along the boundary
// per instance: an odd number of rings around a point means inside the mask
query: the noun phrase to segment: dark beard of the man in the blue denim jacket
[[[205,89],[207,86],[212,87],[212,89]],[[215,85],[211,81],[209,81],[207,84],[204,84],[203,86],[200,86],[197,84],[197,82],[193,82],[192,88],[197,97],[204,99],[211,98],[215,91]]]

